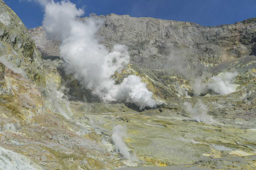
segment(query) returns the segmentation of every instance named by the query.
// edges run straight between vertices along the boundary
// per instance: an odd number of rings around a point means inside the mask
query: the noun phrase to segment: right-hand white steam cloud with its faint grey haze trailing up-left
[[[175,49],[175,47],[173,48]],[[213,92],[214,94],[230,94],[236,91],[237,85],[233,84],[234,78],[238,75],[236,72],[224,72],[218,76],[212,76],[197,60],[193,60],[189,56],[186,58],[186,53],[188,53],[188,49],[172,50],[168,56],[167,64],[176,73],[182,75],[183,78],[192,80],[192,89],[194,90],[195,96],[200,96],[208,92]],[[187,59],[190,60],[187,61]],[[203,75],[198,76],[201,72],[203,72]],[[208,82],[206,82],[207,78]],[[187,96],[186,93],[184,96]]]

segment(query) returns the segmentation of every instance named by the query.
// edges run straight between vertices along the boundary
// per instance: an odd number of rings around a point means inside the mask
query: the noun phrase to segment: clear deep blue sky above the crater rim
[[[60,1],[60,0],[57,0]],[[70,0],[89,13],[189,21],[203,26],[233,24],[256,17],[256,0]],[[26,0],[4,0],[25,26],[42,25],[43,8]]]

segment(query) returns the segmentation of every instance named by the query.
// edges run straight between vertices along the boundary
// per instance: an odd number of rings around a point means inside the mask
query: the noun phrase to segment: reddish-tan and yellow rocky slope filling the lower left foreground
[[[52,99],[53,107],[34,82],[2,63],[0,68],[1,92],[5,92],[0,96],[1,170],[103,169],[123,164],[106,146],[111,146],[109,134],[75,121],[85,118],[74,110],[69,118],[62,116],[65,107]]]

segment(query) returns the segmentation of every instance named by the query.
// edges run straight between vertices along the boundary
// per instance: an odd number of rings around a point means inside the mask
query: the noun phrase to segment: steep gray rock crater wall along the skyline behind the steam
[[[120,43],[129,47],[131,63],[150,69],[168,69],[171,54],[186,61],[214,66],[225,60],[254,54],[256,19],[231,25],[205,27],[190,22],[135,18],[110,14],[98,35],[109,49]],[[46,41],[42,27],[30,29],[37,47],[46,55],[59,55],[57,42]]]

